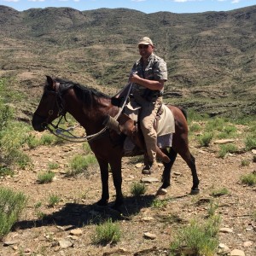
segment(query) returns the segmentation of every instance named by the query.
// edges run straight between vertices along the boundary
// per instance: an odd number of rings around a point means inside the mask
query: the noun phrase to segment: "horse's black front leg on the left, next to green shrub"
[[[99,206],[107,206],[109,199],[109,191],[108,191],[108,161],[106,160],[98,160],[99,166],[101,169],[101,177],[102,177],[102,198],[97,202]]]

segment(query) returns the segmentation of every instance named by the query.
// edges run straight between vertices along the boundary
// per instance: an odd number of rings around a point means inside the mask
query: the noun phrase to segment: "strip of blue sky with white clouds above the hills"
[[[71,7],[81,11],[99,8],[128,8],[147,14],[158,11],[172,13],[228,11],[254,4],[256,0],[0,0],[0,5],[19,11],[45,7]]]

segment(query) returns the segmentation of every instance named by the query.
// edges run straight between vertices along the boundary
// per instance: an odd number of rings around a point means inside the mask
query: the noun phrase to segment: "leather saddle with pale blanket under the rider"
[[[117,120],[108,116],[108,119],[104,122],[104,125],[108,126],[108,128],[126,135],[124,143],[125,156],[134,156],[146,152],[143,133],[138,122],[140,108],[137,102],[128,102]],[[156,155],[160,160],[168,163],[170,162],[169,157],[160,148],[172,147],[172,133],[175,132],[175,125],[172,111],[164,104],[156,115],[154,129],[157,131]]]

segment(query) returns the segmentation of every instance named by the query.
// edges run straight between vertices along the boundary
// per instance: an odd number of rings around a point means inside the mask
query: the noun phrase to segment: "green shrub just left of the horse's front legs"
[[[96,157],[92,154],[75,155],[68,165],[68,176],[75,176],[80,173],[86,173],[89,166],[96,164]]]

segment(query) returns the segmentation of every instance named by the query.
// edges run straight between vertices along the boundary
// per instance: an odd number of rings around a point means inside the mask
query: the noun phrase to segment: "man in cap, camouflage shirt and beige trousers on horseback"
[[[141,58],[131,69],[129,81],[133,83],[131,95],[140,105],[140,125],[147,148],[147,159],[143,167],[143,174],[150,174],[156,164],[156,131],[154,119],[162,104],[164,83],[167,80],[166,62],[154,55],[154,44],[148,37],[138,43]]]

